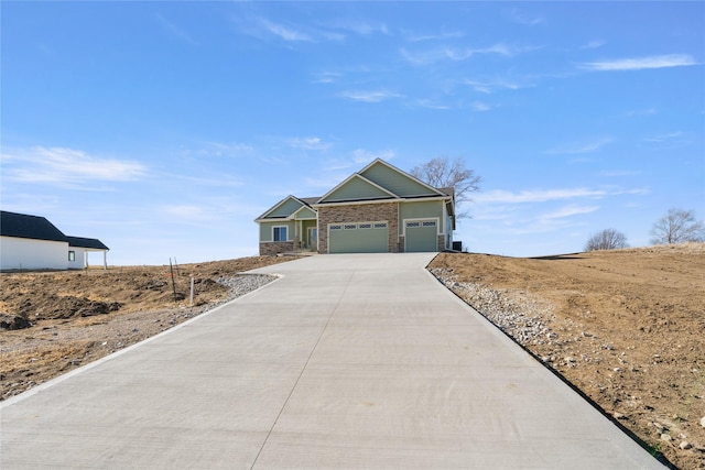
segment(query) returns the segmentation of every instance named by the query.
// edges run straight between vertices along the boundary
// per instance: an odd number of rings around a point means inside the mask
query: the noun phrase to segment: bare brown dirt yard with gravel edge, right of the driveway
[[[653,452],[705,469],[704,243],[430,267]]]

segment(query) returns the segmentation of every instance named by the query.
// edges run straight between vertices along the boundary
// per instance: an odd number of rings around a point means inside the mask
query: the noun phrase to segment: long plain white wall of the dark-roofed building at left
[[[65,270],[66,267],[68,267],[68,242],[15,237],[0,238],[0,269],[2,270]]]

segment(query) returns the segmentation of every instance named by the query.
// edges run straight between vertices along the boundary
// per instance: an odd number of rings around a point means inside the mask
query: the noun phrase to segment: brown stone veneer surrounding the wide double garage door
[[[328,252],[328,225],[345,222],[386,221],[388,251],[399,253],[404,247],[399,243],[399,204],[360,204],[318,207],[318,252]]]

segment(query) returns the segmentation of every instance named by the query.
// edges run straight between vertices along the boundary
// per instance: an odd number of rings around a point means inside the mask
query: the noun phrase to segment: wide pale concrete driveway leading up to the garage
[[[4,403],[0,467],[663,468],[432,259],[257,270],[283,277]]]

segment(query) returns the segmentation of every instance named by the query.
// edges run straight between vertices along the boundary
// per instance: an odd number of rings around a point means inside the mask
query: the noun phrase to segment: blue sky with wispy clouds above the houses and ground
[[[1,204],[110,264],[257,254],[381,157],[484,179],[469,251],[705,218],[704,2],[2,2]]]

